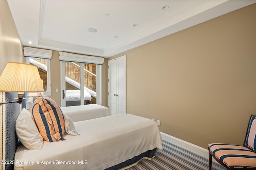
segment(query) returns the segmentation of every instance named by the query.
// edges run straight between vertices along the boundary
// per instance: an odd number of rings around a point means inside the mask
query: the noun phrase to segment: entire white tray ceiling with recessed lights
[[[24,46],[106,58],[256,3],[256,0],[7,1]],[[162,10],[163,6],[169,8]],[[88,28],[98,31],[91,33]]]

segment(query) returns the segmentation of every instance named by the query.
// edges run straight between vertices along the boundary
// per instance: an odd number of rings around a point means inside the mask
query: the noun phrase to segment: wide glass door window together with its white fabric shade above
[[[101,105],[102,57],[78,55],[60,51],[61,106]],[[89,96],[89,101],[87,96]],[[90,100],[91,98],[91,100]]]

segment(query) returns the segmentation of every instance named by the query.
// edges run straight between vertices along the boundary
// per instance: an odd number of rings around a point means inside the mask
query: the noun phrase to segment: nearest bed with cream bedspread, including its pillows
[[[38,98],[43,104],[38,102]],[[31,110],[22,109],[16,120],[16,134],[20,142],[13,161],[15,170],[118,170],[134,166],[141,159],[151,159],[162,149],[160,131],[151,119],[119,114],[73,122],[62,115],[54,101],[45,103],[49,100],[47,96],[39,95]],[[49,135],[45,139],[36,119],[34,110],[42,110],[45,114],[44,107],[49,115],[53,113],[64,117],[65,131],[61,131],[59,138],[55,136],[56,141],[47,141]],[[44,117],[42,113],[37,114]],[[56,118],[52,116],[50,119]],[[47,118],[47,123],[50,119]],[[54,121],[47,128],[52,127],[55,127]]]

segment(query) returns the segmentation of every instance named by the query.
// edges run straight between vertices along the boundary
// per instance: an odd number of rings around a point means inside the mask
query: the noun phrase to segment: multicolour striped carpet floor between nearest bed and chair
[[[152,160],[141,160],[127,170],[208,170],[207,158],[194,154],[167,141],[162,141],[163,150],[155,154]],[[212,158],[214,159],[214,158]],[[212,170],[225,170],[223,166],[212,162]]]

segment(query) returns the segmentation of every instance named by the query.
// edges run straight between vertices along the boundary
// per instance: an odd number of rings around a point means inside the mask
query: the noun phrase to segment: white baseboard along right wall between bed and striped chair
[[[167,142],[170,142],[174,145],[177,145],[179,147],[182,147],[186,150],[189,150],[190,152],[193,152],[195,154],[198,154],[206,159],[209,159],[209,154],[208,154],[208,150],[207,149],[204,149],[202,147],[198,147],[197,145],[194,145],[192,143],[188,143],[186,141],[183,141],[181,139],[178,139],[176,137],[173,137],[171,135],[168,135],[168,134],[165,134],[165,133],[161,133],[161,136],[162,136],[162,139],[167,141]],[[212,161],[215,161],[214,159],[212,159]]]

